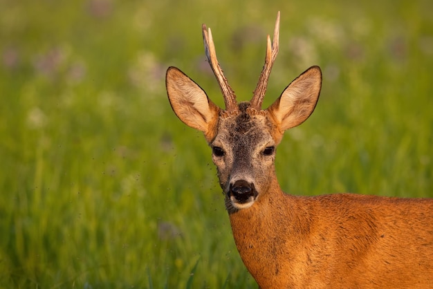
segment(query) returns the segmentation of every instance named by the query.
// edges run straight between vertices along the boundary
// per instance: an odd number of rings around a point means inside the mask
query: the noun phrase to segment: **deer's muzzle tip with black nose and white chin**
[[[251,207],[257,198],[257,191],[253,183],[246,180],[237,180],[230,184],[227,196],[232,201],[233,207],[237,209],[246,209]]]

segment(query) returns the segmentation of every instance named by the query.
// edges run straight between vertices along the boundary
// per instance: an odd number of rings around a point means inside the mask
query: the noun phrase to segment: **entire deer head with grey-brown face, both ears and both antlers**
[[[271,106],[261,109],[278,53],[278,12],[273,42],[268,35],[265,63],[252,100],[237,103],[216,59],[212,32],[204,24],[203,40],[206,57],[223,93],[225,109],[216,106],[198,84],[175,67],[167,70],[167,94],[178,118],[204,133],[212,148],[225,205],[229,212],[236,212],[266,198],[273,189],[279,189],[274,167],[275,148],[286,129],[296,127],[313,113],[322,73],[318,66],[308,68]]]

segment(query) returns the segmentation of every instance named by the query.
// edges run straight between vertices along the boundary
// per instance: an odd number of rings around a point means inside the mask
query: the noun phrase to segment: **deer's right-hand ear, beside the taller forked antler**
[[[322,86],[319,66],[312,66],[298,76],[282,95],[268,107],[280,131],[302,124],[313,113]]]

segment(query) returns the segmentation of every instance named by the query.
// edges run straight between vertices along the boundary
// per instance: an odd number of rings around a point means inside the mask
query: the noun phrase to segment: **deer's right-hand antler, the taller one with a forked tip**
[[[261,103],[263,102],[266,88],[268,86],[268,80],[270,71],[277,58],[278,46],[279,46],[279,11],[277,14],[277,20],[275,21],[274,39],[272,44],[270,43],[270,36],[268,35],[268,45],[266,47],[266,58],[263,70],[261,71],[259,82],[257,83],[254,95],[250,101],[250,106],[254,109],[261,110]]]

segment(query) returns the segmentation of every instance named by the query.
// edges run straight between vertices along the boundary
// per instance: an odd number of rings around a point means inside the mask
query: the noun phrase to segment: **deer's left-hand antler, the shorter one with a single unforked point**
[[[224,102],[225,102],[225,110],[226,111],[236,111],[237,110],[237,102],[236,95],[234,95],[234,91],[230,87],[227,82],[227,79],[224,76],[223,70],[221,66],[219,66],[218,59],[216,59],[216,52],[214,46],[214,40],[212,39],[212,32],[210,28],[206,28],[205,24],[202,26],[203,29],[203,42],[205,44],[205,54],[208,58],[208,62],[212,71],[214,71],[214,75],[216,80],[218,80],[219,87],[221,88],[221,92],[223,93]]]

